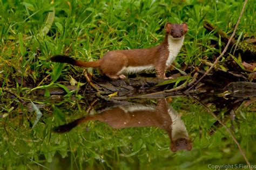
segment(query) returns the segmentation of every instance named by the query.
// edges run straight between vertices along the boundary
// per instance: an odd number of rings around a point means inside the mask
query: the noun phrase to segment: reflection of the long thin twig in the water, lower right
[[[189,95],[189,94],[188,94],[188,95]],[[191,96],[191,95],[189,95],[189,96]],[[222,121],[220,121],[220,119],[219,119],[205,104],[203,104],[202,102],[200,102],[196,97],[194,97],[194,96],[191,96],[191,97],[194,98],[194,100],[196,100],[199,104],[201,104],[201,105],[205,108],[205,110],[206,110],[208,113],[210,113],[221,125],[224,126],[224,128],[226,129],[226,131],[230,134],[231,138],[233,139],[234,143],[237,144],[237,146],[238,146],[238,148],[239,148],[239,151],[241,152],[242,156],[244,157],[244,159],[245,159],[245,161],[246,161],[246,164],[250,167],[250,169],[252,169],[252,168],[251,168],[251,164],[250,164],[250,162],[248,161],[248,159],[247,159],[247,157],[246,157],[244,151],[242,151],[241,145],[239,144],[239,142],[237,141],[237,139],[235,139],[234,134],[231,132],[231,130],[230,130],[229,128],[227,128],[227,126],[226,126]]]

